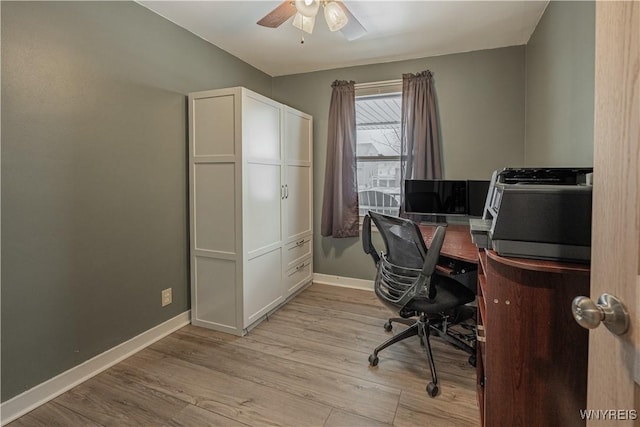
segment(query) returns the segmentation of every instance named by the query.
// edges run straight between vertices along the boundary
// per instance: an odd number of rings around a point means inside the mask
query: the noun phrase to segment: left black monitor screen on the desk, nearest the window
[[[467,181],[408,179],[404,182],[405,212],[421,215],[466,215]]]

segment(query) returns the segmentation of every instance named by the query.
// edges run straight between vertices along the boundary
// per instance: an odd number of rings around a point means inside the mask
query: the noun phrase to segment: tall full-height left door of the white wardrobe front
[[[282,105],[243,90],[243,328],[283,301]]]

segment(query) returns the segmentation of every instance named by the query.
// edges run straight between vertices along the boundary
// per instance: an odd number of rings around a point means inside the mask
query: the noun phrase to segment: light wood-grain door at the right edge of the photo
[[[639,27],[640,2],[597,2],[591,299],[619,297],[630,329],[590,332],[588,425],[640,425]]]

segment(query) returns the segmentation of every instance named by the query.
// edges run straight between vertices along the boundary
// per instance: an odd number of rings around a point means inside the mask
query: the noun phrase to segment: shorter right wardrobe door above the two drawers
[[[312,118],[285,107],[284,186],[285,243],[312,233]]]

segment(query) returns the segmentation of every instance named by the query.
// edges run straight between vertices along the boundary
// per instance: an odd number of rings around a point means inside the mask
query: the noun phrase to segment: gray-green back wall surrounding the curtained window
[[[371,260],[357,238],[320,236],[331,82],[356,83],[433,72],[447,179],[489,179],[524,162],[525,48],[516,46],[341,68],[274,78],[273,96],[314,118],[314,271],[372,279]]]

